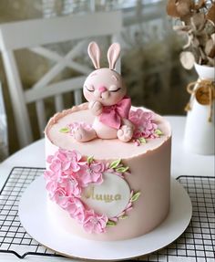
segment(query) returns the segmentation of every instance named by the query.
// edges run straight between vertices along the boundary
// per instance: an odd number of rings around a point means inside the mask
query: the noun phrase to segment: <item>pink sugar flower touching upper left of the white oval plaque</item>
[[[105,171],[105,167],[106,165],[103,162],[86,162],[83,164],[77,172],[78,181],[81,183],[81,186],[87,187],[89,183],[102,183],[102,176]]]

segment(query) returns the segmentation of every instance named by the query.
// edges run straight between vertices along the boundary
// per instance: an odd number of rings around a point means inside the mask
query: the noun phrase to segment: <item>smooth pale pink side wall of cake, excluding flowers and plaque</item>
[[[170,146],[169,138],[153,152],[122,160],[130,169],[130,174],[125,180],[131,189],[140,193],[140,196],[138,201],[132,204],[127,217],[119,218],[115,225],[107,226],[105,233],[88,234],[67,211],[47,199],[50,220],[68,233],[93,240],[122,240],[147,234],[160,225],[169,214]]]

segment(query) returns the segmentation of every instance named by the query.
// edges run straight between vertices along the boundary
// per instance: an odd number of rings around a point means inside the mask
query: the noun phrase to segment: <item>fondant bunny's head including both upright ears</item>
[[[120,46],[118,43],[112,44],[107,51],[109,68],[100,68],[100,49],[96,42],[88,45],[88,55],[94,67],[93,71],[84,83],[84,96],[87,101],[99,101],[104,106],[117,104],[126,95],[126,87],[121,76],[114,70]]]

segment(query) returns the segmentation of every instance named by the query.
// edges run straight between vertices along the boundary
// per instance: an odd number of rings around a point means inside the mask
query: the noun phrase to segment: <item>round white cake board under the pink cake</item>
[[[192,214],[189,194],[172,178],[169,215],[161,225],[147,235],[128,240],[93,241],[68,234],[60,226],[56,229],[47,215],[46,197],[41,176],[29,185],[20,200],[19,217],[26,232],[59,254],[82,259],[121,260],[148,255],[177,239],[189,225]]]

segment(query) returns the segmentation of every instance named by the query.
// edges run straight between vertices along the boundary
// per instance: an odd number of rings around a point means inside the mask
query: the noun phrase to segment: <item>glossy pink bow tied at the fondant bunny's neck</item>
[[[99,121],[118,130],[121,126],[121,119],[128,119],[130,107],[131,101],[128,97],[125,97],[113,106],[103,107]]]

